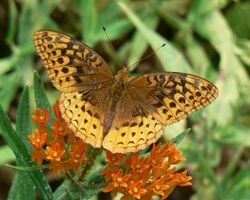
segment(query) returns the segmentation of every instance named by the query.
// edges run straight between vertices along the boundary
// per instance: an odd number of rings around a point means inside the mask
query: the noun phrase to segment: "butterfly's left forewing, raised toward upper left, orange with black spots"
[[[113,78],[112,71],[97,53],[70,36],[37,31],[34,44],[52,83],[60,91],[90,90]]]

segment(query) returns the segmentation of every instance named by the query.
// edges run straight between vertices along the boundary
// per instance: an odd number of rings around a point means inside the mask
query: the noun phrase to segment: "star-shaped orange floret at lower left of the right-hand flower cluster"
[[[131,174],[123,176],[123,170],[120,169],[117,174],[112,174],[113,181],[103,189],[104,192],[110,192],[114,197],[117,192],[120,192],[123,188],[128,187],[127,181],[130,179]]]

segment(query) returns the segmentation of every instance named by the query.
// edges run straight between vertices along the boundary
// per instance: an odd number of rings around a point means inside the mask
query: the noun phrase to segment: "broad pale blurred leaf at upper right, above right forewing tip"
[[[220,54],[220,68],[224,70],[224,76],[236,78],[242,86],[248,84],[247,72],[234,53],[233,33],[223,15],[213,12],[203,17],[197,16],[194,28]]]

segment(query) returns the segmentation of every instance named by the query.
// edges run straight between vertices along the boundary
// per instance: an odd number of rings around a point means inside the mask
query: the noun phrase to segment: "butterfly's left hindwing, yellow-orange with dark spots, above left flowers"
[[[103,122],[108,109],[106,101],[108,89],[94,92],[63,93],[59,108],[70,129],[84,142],[101,147]]]

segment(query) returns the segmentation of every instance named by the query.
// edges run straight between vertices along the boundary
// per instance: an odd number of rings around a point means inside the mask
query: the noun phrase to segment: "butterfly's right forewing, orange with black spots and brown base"
[[[131,87],[165,125],[204,108],[218,95],[216,86],[208,80],[177,72],[146,74],[132,80]]]

